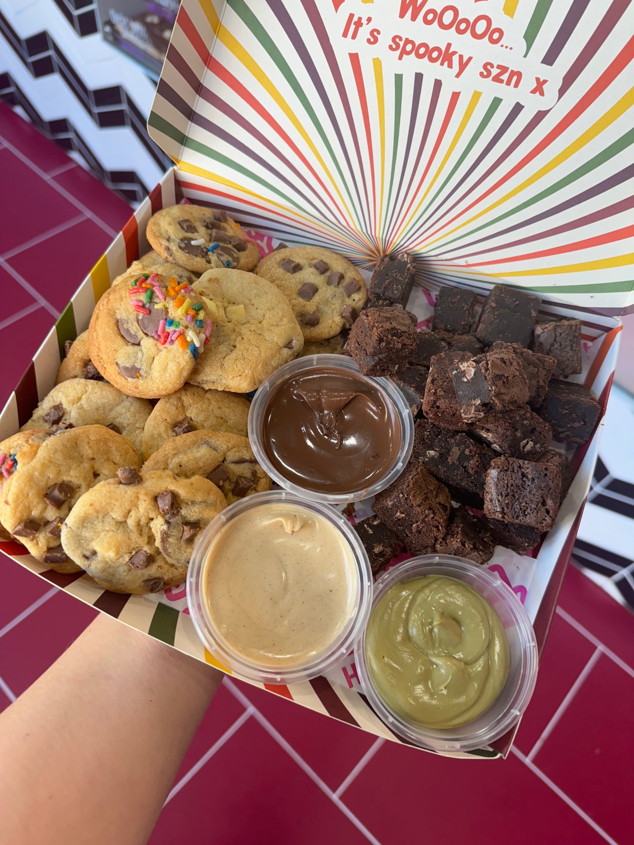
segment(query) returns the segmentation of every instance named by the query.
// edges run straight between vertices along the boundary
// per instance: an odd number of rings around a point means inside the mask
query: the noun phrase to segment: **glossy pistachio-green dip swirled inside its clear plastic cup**
[[[385,703],[427,728],[472,722],[500,695],[509,670],[495,610],[445,575],[392,586],[370,617],[365,651]]]

